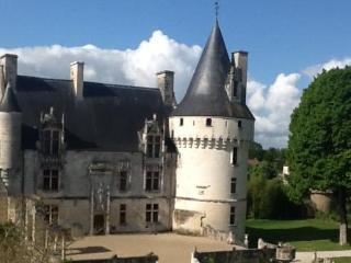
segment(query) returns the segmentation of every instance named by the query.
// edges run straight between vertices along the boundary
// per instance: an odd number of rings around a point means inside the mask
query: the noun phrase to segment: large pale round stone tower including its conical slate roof
[[[240,54],[247,58],[247,53]],[[176,231],[244,240],[248,147],[254,122],[245,99],[240,100],[244,91],[237,92],[246,88],[246,70],[229,60],[216,21],[186,94],[170,117],[179,153]]]

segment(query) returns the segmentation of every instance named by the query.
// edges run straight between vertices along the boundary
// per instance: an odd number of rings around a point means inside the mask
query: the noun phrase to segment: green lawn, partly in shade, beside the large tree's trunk
[[[288,242],[297,251],[349,250],[351,245],[339,245],[339,227],[331,220],[247,220],[246,232],[249,244],[257,247],[257,240]],[[350,239],[351,237],[349,237]]]

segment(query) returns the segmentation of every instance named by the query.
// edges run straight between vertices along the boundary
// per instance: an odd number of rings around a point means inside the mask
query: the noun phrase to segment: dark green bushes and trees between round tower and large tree
[[[303,205],[287,196],[281,175],[285,164],[285,149],[263,149],[252,142],[249,149],[248,217],[259,219],[295,219],[306,215]]]

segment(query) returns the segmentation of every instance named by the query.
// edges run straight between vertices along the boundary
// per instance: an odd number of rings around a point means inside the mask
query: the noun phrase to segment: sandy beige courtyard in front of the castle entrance
[[[69,245],[67,258],[71,260],[109,259],[157,254],[159,262],[190,262],[197,251],[228,251],[234,245],[203,237],[177,233],[109,235],[84,237]]]

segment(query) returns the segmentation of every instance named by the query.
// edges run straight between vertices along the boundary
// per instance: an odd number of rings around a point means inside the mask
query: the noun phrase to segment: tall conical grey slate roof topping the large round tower
[[[206,46],[173,116],[231,116],[231,105],[225,91],[229,57],[216,20]]]

